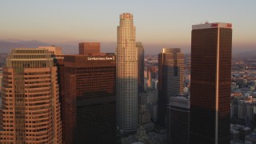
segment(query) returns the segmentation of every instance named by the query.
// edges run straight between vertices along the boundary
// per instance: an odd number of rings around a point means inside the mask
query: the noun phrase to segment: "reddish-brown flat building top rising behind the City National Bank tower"
[[[100,42],[80,42],[79,43],[79,54],[86,55],[91,53],[100,53],[101,44]]]

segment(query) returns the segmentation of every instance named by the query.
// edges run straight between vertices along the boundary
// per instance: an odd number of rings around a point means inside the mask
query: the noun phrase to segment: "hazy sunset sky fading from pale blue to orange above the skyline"
[[[0,39],[116,42],[122,13],[150,49],[189,50],[191,26],[207,20],[233,23],[234,49],[256,50],[255,0],[1,0]]]

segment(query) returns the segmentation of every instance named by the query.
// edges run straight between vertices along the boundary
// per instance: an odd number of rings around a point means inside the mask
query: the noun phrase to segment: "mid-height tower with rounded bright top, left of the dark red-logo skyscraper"
[[[158,54],[158,124],[166,127],[166,108],[170,97],[184,89],[184,54],[180,48],[163,48]]]

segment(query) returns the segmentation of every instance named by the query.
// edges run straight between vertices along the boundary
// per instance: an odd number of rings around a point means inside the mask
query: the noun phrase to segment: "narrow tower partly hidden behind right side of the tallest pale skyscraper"
[[[144,47],[142,42],[136,42],[138,48],[138,92],[144,92]]]

